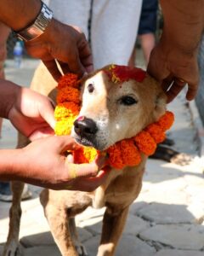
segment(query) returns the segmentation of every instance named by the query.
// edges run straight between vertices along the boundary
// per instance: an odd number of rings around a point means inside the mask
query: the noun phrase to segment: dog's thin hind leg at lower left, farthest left
[[[13,201],[9,212],[9,231],[7,242],[3,250],[3,256],[18,256],[21,254],[19,244],[19,233],[21,217],[20,201],[23,189],[24,183],[12,183]]]

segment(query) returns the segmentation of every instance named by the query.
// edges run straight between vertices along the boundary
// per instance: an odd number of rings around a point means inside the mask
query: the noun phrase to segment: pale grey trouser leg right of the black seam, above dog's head
[[[91,44],[94,67],[127,65],[137,37],[141,0],[94,0]]]

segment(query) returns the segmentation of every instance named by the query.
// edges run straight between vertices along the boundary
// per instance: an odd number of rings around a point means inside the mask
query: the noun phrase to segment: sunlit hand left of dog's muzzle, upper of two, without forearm
[[[31,141],[54,134],[54,103],[47,96],[16,86],[18,92],[8,119],[23,135]]]

